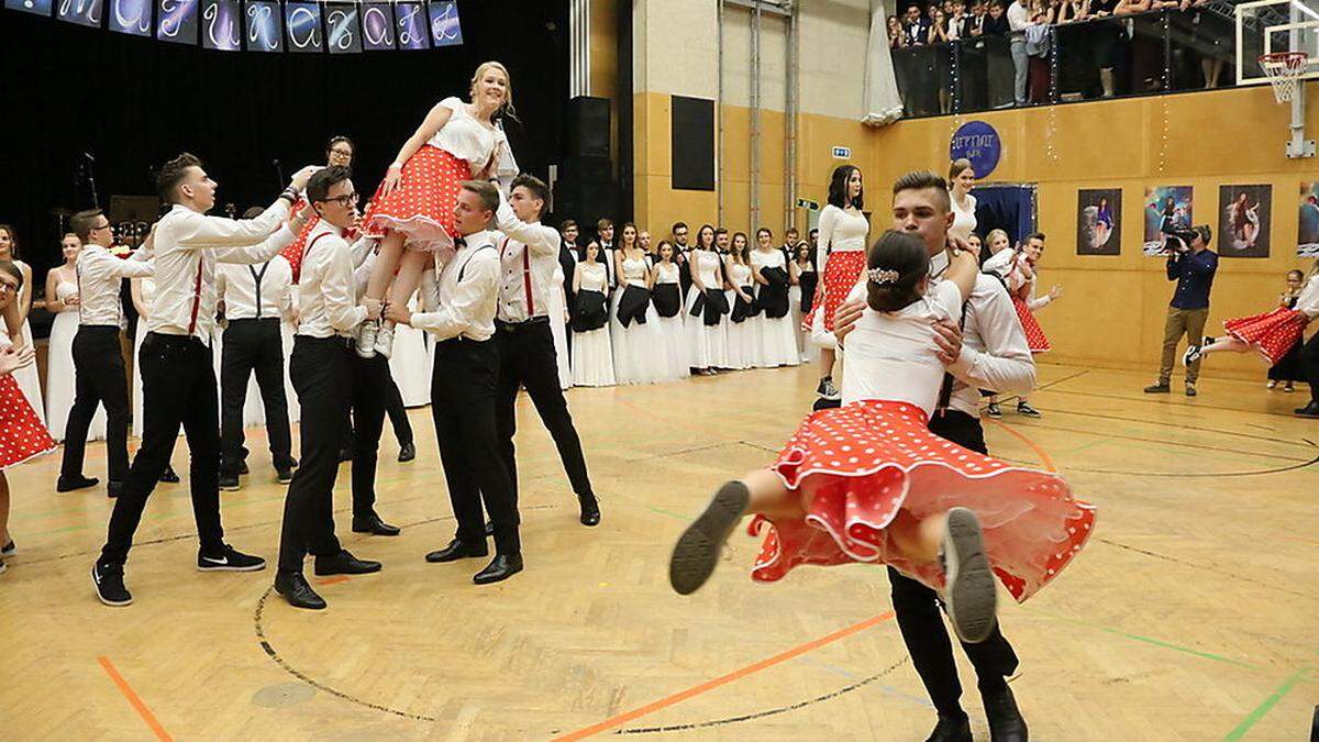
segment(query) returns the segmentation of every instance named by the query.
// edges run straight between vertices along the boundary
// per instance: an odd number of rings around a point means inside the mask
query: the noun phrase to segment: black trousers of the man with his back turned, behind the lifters
[[[243,407],[253,372],[265,405],[270,461],[276,469],[290,469],[294,463],[280,320],[231,320],[220,354],[220,466],[226,474],[237,474],[243,462]]]

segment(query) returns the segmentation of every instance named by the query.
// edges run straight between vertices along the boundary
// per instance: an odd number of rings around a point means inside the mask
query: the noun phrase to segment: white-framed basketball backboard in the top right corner
[[[1319,0],[1254,0],[1233,11],[1237,84],[1269,82],[1258,59],[1277,51],[1304,51],[1301,77],[1319,78]]]

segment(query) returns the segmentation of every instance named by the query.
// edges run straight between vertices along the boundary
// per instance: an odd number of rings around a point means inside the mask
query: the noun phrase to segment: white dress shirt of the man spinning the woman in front
[[[947,253],[930,259],[931,288],[943,281],[947,268]],[[1035,362],[1030,358],[1026,334],[1021,330],[1012,298],[1002,284],[983,273],[976,275],[976,285],[967,302],[962,355],[948,366],[948,374],[955,378],[948,407],[972,417],[980,415],[980,389],[1020,395],[1035,388]]]

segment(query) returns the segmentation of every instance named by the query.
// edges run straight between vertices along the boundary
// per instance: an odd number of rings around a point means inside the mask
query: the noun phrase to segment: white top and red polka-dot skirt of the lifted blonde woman
[[[446,98],[441,106],[450,110],[448,121],[402,164],[398,186],[389,195],[381,184],[371,197],[363,215],[368,236],[397,230],[404,232],[408,250],[452,248],[459,187],[492,164],[504,133],[479,121],[456,98]]]

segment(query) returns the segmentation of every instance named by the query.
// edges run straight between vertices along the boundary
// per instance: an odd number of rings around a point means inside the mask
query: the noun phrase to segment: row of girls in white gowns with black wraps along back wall
[[[609,236],[605,231],[601,239]],[[811,273],[814,292],[809,251],[790,259],[772,244],[768,228],[757,232],[754,250],[747,235],[710,224],[686,252],[669,240],[644,248],[630,223],[620,236],[617,247],[592,242],[574,255],[574,386],[645,384],[802,362],[803,272]]]

